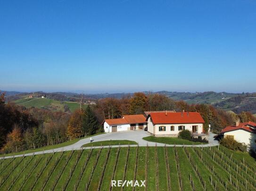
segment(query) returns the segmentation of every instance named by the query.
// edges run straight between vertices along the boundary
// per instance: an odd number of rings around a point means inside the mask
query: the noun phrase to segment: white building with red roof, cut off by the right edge
[[[240,143],[245,143],[248,148],[256,150],[256,123],[237,122],[236,125],[225,127],[221,134],[224,138],[233,138]]]

